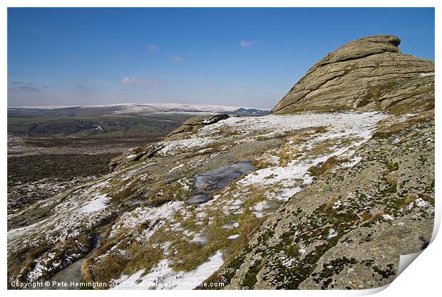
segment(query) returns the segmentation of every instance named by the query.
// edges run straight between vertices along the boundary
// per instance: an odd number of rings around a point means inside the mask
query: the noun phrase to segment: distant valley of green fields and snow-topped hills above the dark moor
[[[28,136],[157,138],[195,115],[267,115],[269,110],[220,105],[156,103],[8,108],[8,133]]]

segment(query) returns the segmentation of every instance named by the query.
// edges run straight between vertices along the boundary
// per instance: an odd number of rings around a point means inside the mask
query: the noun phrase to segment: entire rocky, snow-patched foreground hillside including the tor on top
[[[9,288],[391,283],[399,256],[428,246],[435,199],[434,63],[399,44],[346,43],[270,115],[188,118],[9,214]]]

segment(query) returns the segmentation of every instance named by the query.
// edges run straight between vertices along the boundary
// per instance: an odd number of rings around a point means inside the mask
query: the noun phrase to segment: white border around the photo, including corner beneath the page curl
[[[213,0],[213,1],[198,1],[198,0],[164,0],[164,1],[140,1],[140,0],[126,0],[126,1],[117,1],[117,0],[66,0],[66,1],[54,1],[54,0],[42,0],[42,1],[30,1],[30,0],[6,0],[1,1],[1,12],[0,12],[0,56],[1,56],[1,102],[3,103],[3,108],[1,108],[1,118],[4,120],[3,125],[1,125],[2,132],[2,145],[1,145],[1,167],[6,169],[6,98],[7,98],[7,68],[6,68],[6,34],[7,34],[7,7],[52,7],[52,6],[65,6],[65,7],[100,7],[100,6],[111,6],[111,7],[141,7],[141,6],[150,6],[150,7],[168,7],[168,6],[178,6],[178,7],[245,7],[245,6],[259,6],[259,7],[436,7],[436,36],[441,32],[441,1],[437,0],[420,0],[420,1],[411,1],[411,0],[371,0],[371,1],[350,1],[350,0],[311,0],[311,1],[287,1],[287,0],[272,0],[272,1],[242,1],[242,0]],[[394,18],[394,16],[391,16]],[[436,38],[436,51],[435,51],[435,61],[438,61],[441,53],[441,40],[440,38]],[[436,73],[440,73],[440,67],[438,67],[438,63],[436,63]],[[438,113],[438,97],[439,92],[437,86],[440,85],[439,75],[436,74],[436,114]],[[439,115],[436,115],[436,131],[441,127],[441,120],[439,119]],[[438,168],[440,165],[440,157],[438,157],[438,148],[441,147],[441,139],[436,134],[436,219],[435,219],[435,231],[436,234],[438,226],[441,222],[441,214],[439,203],[441,202],[438,194],[440,191],[440,183],[438,182]],[[6,203],[6,170],[1,171],[1,194],[4,197],[4,203]],[[4,255],[2,258],[2,271],[3,276],[1,281],[2,291],[6,291],[6,205],[4,204],[3,209],[4,217],[1,220],[1,227],[4,230],[4,236],[2,237],[1,250]],[[428,248],[423,251],[421,256],[418,256],[416,261],[401,273],[400,276],[396,278],[391,285],[386,288],[384,291],[378,293],[379,296],[433,296],[438,291],[438,285],[440,280],[440,271],[441,267],[441,246],[442,239],[441,236],[433,236],[433,242],[428,246]],[[120,296],[122,292],[117,291],[105,291],[107,296]],[[23,296],[24,294],[36,294],[36,296],[44,295],[44,296],[55,296],[60,294],[60,291],[8,291],[8,296]],[[63,291],[63,294],[67,294],[68,296],[76,296],[78,295],[78,291]],[[81,295],[90,296],[97,294],[103,294],[103,291],[81,291]],[[135,293],[134,291],[128,291],[128,294]],[[146,294],[160,294],[165,296],[173,296],[176,291],[141,291],[143,295]],[[210,295],[220,296],[225,295],[226,291],[210,291]],[[267,296],[267,291],[229,291],[227,292],[233,295],[242,296]],[[280,296],[361,296],[366,293],[375,293],[374,291],[272,291],[272,294],[277,294]],[[118,295],[117,295],[118,294]],[[192,291],[192,295],[195,296],[203,296],[207,295],[207,291]]]

